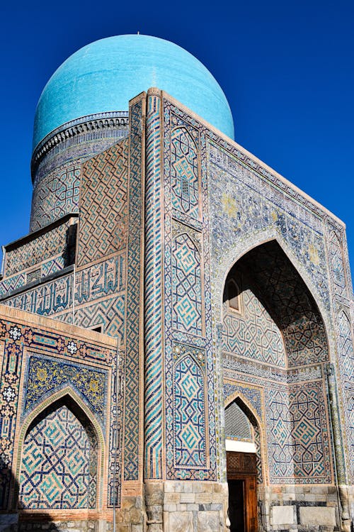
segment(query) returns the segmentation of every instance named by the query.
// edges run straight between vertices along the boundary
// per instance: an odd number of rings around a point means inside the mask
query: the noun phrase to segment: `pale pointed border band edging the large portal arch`
[[[212,284],[212,291],[213,299],[215,301],[215,311],[216,315],[219,315],[220,323],[222,323],[223,318],[222,295],[224,293],[224,285],[229,271],[236,264],[236,262],[246,255],[246,253],[249,253],[249,251],[253,250],[254,248],[268,243],[271,240],[275,240],[278,245],[280,245],[280,248],[290,260],[295,270],[299,273],[300,277],[302,277],[302,280],[304,281],[304,284],[306,284],[307,289],[309,289],[310,294],[312,294],[312,297],[319,308],[321,318],[324,321],[324,330],[326,332],[327,343],[329,346],[329,360],[335,360],[335,341],[333,333],[330,332],[333,331],[331,315],[326,309],[324,301],[322,301],[319,291],[317,290],[306,268],[301,262],[299,262],[295,256],[295,253],[290,248],[290,245],[285,241],[284,238],[282,238],[280,233],[278,233],[275,228],[267,228],[263,231],[258,231],[258,233],[249,235],[248,238],[244,238],[244,240],[242,240],[240,243],[229,248],[227,253],[225,253],[222,257],[222,260],[215,265],[215,280]]]

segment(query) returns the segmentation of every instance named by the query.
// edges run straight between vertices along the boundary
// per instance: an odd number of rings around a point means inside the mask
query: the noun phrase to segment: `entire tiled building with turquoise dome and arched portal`
[[[1,531],[353,530],[345,226],[233,137],[165,40],[47,83],[1,268]]]

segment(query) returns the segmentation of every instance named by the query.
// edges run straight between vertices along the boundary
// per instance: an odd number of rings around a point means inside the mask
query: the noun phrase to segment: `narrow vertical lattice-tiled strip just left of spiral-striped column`
[[[130,176],[127,250],[127,318],[125,353],[125,435],[124,478],[137,480],[139,469],[139,325],[142,322],[140,287],[142,279],[142,114],[144,102],[137,101],[130,107]]]

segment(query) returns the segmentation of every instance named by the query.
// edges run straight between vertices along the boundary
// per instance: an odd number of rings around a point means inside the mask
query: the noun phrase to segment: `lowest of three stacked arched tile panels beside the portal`
[[[175,353],[178,345],[175,347]],[[192,351],[193,353],[193,351]],[[177,354],[177,353],[176,353]],[[205,467],[205,353],[200,350],[198,362],[183,353],[174,366],[174,430],[175,466]]]

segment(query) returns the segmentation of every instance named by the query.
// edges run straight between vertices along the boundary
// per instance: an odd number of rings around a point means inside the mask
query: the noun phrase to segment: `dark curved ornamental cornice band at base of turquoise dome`
[[[102,131],[108,129],[126,128],[128,125],[128,111],[110,111],[107,113],[96,113],[82,116],[75,120],[66,122],[48,133],[33,150],[30,163],[32,176],[43,157],[56,145],[69,138],[83,133]]]

